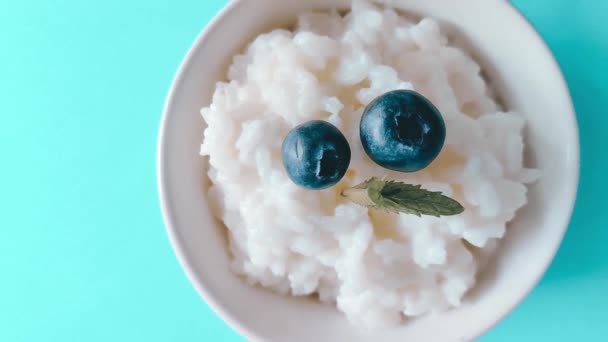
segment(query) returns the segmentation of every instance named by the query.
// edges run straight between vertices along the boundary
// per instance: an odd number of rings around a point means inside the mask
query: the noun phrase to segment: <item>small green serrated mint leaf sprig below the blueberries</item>
[[[439,217],[458,215],[464,211],[460,203],[441,192],[377,177],[344,190],[342,195],[359,205],[394,213]]]

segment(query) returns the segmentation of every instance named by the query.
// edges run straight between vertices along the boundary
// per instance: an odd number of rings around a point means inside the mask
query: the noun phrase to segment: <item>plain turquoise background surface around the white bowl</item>
[[[0,3],[0,341],[241,340],[180,269],[155,170],[174,72],[225,2]],[[582,173],[551,268],[481,341],[605,340],[608,1],[513,2],[568,80]]]

